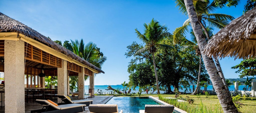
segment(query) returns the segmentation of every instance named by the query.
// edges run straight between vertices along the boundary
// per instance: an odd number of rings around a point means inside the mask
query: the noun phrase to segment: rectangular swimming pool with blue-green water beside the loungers
[[[144,110],[145,104],[159,105],[160,103],[148,97],[112,97],[106,104],[117,104],[118,109],[123,110],[123,113],[136,113]]]

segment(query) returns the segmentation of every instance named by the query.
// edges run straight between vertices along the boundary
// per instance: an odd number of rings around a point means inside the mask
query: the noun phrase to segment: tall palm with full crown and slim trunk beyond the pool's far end
[[[135,29],[135,33],[137,37],[142,40],[146,45],[142,49],[138,50],[134,55],[143,53],[145,51],[149,51],[153,55],[153,64],[156,76],[156,88],[157,93],[160,94],[158,79],[156,73],[156,63],[155,63],[155,52],[157,48],[172,48],[168,45],[160,44],[160,42],[171,34],[167,32],[167,27],[165,25],[161,25],[157,20],[152,19],[152,21],[148,24],[144,23],[144,33],[141,34],[138,29]]]

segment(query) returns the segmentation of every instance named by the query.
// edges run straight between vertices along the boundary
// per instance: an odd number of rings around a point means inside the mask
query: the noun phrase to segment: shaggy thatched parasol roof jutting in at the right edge
[[[204,51],[220,58],[254,58],[256,56],[256,7],[233,20],[209,40]]]

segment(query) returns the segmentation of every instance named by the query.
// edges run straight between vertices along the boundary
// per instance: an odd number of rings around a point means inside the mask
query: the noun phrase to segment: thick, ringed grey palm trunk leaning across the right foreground
[[[188,17],[191,22],[192,29],[195,33],[197,44],[199,46],[199,49],[201,51],[204,51],[204,47],[206,46],[207,42],[204,37],[204,33],[202,32],[202,27],[200,23],[198,22],[198,17],[195,11],[195,7],[192,0],[184,0],[185,6],[188,12]],[[215,91],[217,92],[217,96],[220,102],[220,105],[225,113],[231,113],[231,112],[238,112],[236,106],[234,105],[231,95],[229,91],[225,88],[224,83],[222,82],[222,79],[218,73],[218,70],[214,64],[214,61],[212,58],[209,58],[204,53],[202,54],[202,58],[205,63],[205,67],[207,69],[207,72],[210,76],[210,79],[212,81],[213,87],[215,88]]]

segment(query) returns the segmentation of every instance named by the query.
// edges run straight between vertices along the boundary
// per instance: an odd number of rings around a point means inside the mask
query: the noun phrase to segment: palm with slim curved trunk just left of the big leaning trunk
[[[210,37],[212,37],[213,34],[213,28],[207,26],[206,27],[207,32],[210,34]],[[197,45],[197,40],[195,37],[195,34],[193,32],[193,30],[190,30],[190,35],[191,35],[191,41],[187,40],[186,38],[182,38],[181,40],[181,46],[182,46],[182,50],[183,51],[196,51],[196,55],[199,55],[200,58],[200,62],[199,62],[199,71],[198,71],[198,79],[197,79],[197,85],[196,85],[196,89],[194,90],[193,93],[191,93],[191,95],[195,95],[198,93],[198,89],[199,89],[199,83],[200,83],[200,76],[201,76],[201,65],[202,65],[202,58],[201,58],[201,51]],[[206,34],[204,33],[204,37],[206,37]]]

